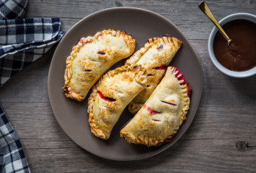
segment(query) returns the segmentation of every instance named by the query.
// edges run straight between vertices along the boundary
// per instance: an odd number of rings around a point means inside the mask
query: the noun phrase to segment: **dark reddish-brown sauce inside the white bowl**
[[[256,66],[256,23],[248,20],[232,20],[224,26],[224,31],[232,40],[227,40],[217,32],[213,50],[218,62],[232,71],[246,71]]]

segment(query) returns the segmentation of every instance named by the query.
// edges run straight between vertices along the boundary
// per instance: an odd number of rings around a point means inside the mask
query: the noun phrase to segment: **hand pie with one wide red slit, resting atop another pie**
[[[145,88],[146,83],[146,70],[141,65],[124,65],[101,77],[88,100],[93,135],[108,139],[123,109]]]

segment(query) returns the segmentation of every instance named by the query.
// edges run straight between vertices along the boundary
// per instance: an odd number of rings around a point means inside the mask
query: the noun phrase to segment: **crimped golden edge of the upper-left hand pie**
[[[72,92],[72,87],[70,85],[70,82],[72,80],[72,62],[76,58],[77,53],[79,52],[81,47],[83,47],[83,44],[81,43],[81,41],[84,42],[84,44],[90,43],[90,42],[96,40],[100,35],[102,35],[102,33],[104,33],[106,35],[111,34],[112,36],[123,35],[123,39],[124,39],[124,41],[126,41],[126,44],[129,45],[128,47],[130,48],[130,50],[134,51],[135,39],[133,39],[133,37],[130,34],[127,34],[126,32],[123,32],[120,30],[117,30],[117,31],[115,31],[114,29],[103,30],[103,31],[97,32],[93,37],[88,36],[87,38],[81,38],[80,41],[78,42],[78,44],[76,44],[72,48],[72,53],[70,53],[70,56],[68,56],[68,58],[66,59],[66,70],[65,70],[65,74],[64,74],[65,84],[62,87],[62,90],[67,98],[76,99],[78,101],[82,101],[85,99],[86,96],[81,96],[81,95],[79,95],[79,93]],[[133,54],[133,51],[130,51],[130,55]]]

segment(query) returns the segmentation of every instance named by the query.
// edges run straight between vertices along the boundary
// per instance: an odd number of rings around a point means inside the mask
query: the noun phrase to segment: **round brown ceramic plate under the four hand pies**
[[[123,30],[136,39],[136,50],[144,47],[148,38],[158,37],[165,34],[171,35],[183,41],[181,49],[172,60],[171,65],[177,67],[187,78],[193,90],[190,100],[190,110],[187,120],[181,125],[172,141],[160,147],[145,147],[136,144],[128,144],[120,138],[120,129],[124,123],[133,117],[127,110],[123,111],[120,120],[111,133],[107,141],[96,138],[90,132],[87,114],[87,98],[83,102],[67,99],[62,93],[64,86],[64,71],[66,68],[66,58],[72,52],[72,47],[78,43],[81,37],[94,35],[104,29]],[[123,65],[125,59],[114,65]],[[187,38],[178,28],[151,11],[138,8],[111,8],[91,14],[75,24],[69,32],[62,38],[53,55],[50,64],[48,78],[48,93],[50,105],[56,120],[62,129],[84,150],[97,156],[114,160],[136,160],[154,156],[166,150],[181,138],[192,122],[198,105],[200,103],[203,90],[203,71],[197,54],[187,41]],[[89,94],[90,95],[90,94]]]

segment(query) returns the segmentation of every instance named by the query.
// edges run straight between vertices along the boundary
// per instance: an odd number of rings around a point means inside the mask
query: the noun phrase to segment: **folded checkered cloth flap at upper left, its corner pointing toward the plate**
[[[62,36],[59,18],[0,20],[0,86]]]

